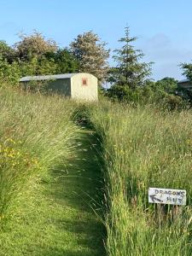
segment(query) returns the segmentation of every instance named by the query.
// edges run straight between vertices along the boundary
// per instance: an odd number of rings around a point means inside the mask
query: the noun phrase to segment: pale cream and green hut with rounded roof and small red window
[[[98,85],[95,76],[90,73],[64,73],[56,75],[31,76],[20,79],[24,87],[30,89],[30,84],[45,82],[46,89],[68,96],[72,99],[96,101]]]

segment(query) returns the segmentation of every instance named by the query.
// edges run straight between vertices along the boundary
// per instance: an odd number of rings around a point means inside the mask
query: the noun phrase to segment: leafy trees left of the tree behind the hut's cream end
[[[54,73],[73,73],[79,63],[69,49],[60,49],[53,40],[38,32],[21,35],[14,46],[0,42],[0,79],[18,84],[20,77]]]

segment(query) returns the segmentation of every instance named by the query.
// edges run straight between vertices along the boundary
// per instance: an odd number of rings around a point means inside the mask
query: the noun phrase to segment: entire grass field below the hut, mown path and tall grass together
[[[0,99],[1,255],[192,254],[191,110]],[[186,207],[149,187],[186,189]]]

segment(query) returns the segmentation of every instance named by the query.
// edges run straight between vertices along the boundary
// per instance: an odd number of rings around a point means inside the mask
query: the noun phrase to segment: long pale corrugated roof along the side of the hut
[[[71,79],[74,75],[78,73],[61,73],[56,75],[45,75],[45,76],[28,76],[20,79],[20,82],[27,81],[40,81],[40,80],[55,80],[55,79]]]

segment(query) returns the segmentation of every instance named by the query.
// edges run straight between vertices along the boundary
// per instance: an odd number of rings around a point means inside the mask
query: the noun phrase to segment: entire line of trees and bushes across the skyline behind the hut
[[[119,39],[121,48],[113,50],[115,64],[109,67],[110,49],[94,32],[79,34],[64,48],[36,31],[31,35],[21,34],[20,41],[13,46],[0,41],[0,81],[18,84],[26,75],[86,72],[95,75],[100,85],[110,84],[103,94],[115,101],[160,102],[169,108],[188,105],[190,93],[178,89],[176,79],[157,82],[151,79],[153,62],[142,61],[142,50],[133,45],[136,40],[130,36],[129,27],[125,27],[125,35]],[[192,80],[192,64],[180,66]]]

